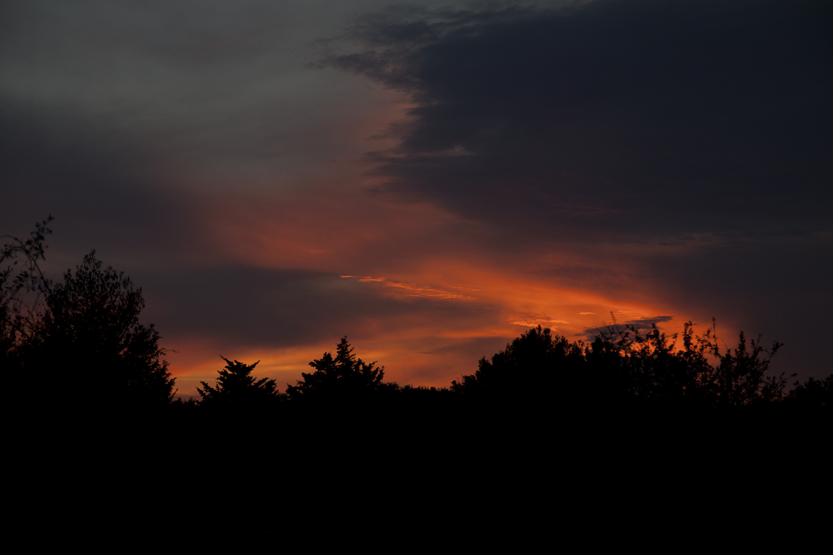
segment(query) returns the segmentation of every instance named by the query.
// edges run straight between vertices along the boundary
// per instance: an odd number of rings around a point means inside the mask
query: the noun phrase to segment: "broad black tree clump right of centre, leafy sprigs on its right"
[[[677,344],[681,339],[681,347]],[[651,403],[678,406],[742,406],[784,398],[785,374],[767,375],[781,344],[765,349],[761,338],[721,352],[716,327],[694,334],[687,322],[681,338],[632,326],[607,326],[591,344],[568,341],[551,330],[528,330],[506,349],[482,358],[475,374],[451,383],[466,395],[526,398],[553,395],[594,404]]]

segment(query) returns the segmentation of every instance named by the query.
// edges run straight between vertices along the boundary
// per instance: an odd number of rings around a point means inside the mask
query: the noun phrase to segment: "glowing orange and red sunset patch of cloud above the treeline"
[[[459,218],[426,203],[393,204],[368,201],[361,192],[319,191],[257,203],[223,199],[208,210],[222,210],[225,216],[207,219],[221,222],[209,233],[224,260],[323,270],[356,280],[381,298],[433,303],[424,314],[367,318],[352,330],[348,339],[357,355],[384,365],[386,381],[447,386],[473,373],[481,356],[490,357],[536,325],[581,339],[585,330],[610,323],[611,313],[620,322],[673,314],[627,292],[616,298],[542,278],[536,274],[540,265],[559,256],[572,261],[575,255],[530,256],[477,247],[477,230],[447,235]],[[675,318],[663,329],[674,332],[681,321]],[[192,353],[169,356],[179,393],[196,394],[199,380],[216,378],[224,363],[213,352],[217,348],[202,339],[171,339]],[[255,374],[277,379],[284,389],[310,370],[312,359],[332,351],[338,339],[282,349],[241,346],[222,354],[247,364],[260,360]]]

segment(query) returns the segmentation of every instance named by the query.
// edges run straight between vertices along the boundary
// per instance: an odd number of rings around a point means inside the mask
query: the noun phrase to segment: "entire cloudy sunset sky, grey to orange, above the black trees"
[[[614,320],[821,377],[831,98],[829,2],[9,1],[0,233],[130,275],[180,394]]]

